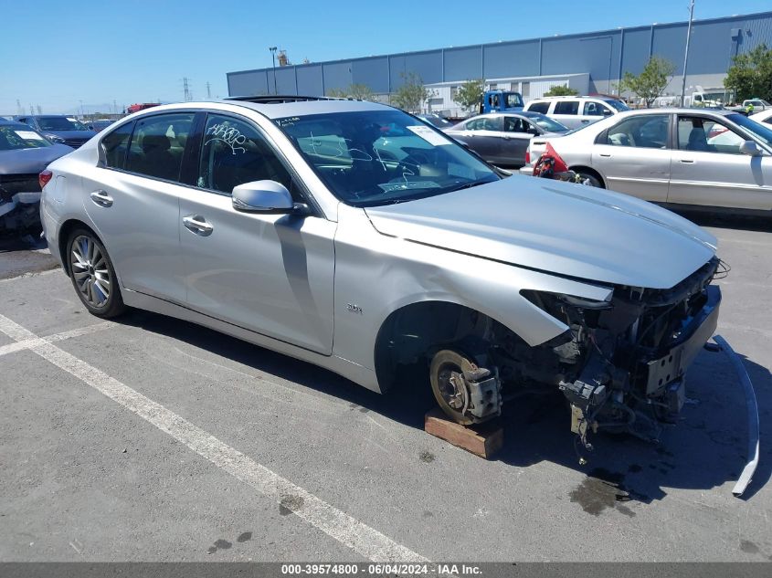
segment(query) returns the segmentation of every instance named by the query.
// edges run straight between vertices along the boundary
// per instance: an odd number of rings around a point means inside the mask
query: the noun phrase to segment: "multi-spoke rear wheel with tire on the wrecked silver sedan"
[[[69,278],[91,315],[109,319],[126,310],[107,249],[90,230],[74,230],[67,241]]]

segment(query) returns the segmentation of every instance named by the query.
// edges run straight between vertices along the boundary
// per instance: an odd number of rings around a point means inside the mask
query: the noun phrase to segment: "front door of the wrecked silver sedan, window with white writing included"
[[[209,113],[196,139],[194,187],[180,199],[178,231],[188,306],[283,342],[333,350],[333,240],[322,215],[245,213],[233,187],[277,181],[299,202],[288,164],[252,121]]]

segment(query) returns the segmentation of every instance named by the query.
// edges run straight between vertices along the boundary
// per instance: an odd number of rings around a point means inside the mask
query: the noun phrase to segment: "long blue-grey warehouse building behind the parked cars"
[[[680,95],[687,22],[652,24],[586,34],[512,40],[420,52],[346,58],[329,62],[227,73],[228,94],[323,95],[363,84],[387,100],[409,73],[416,73],[432,98],[426,108],[456,114],[454,89],[469,79],[486,87],[512,89],[526,101],[556,84],[580,94],[613,93],[625,72],[640,70],[653,55],[671,60],[676,71],[666,95]],[[694,20],[686,93],[724,92],[732,58],[759,44],[772,47],[772,12]],[[725,98],[725,97],[724,97]]]

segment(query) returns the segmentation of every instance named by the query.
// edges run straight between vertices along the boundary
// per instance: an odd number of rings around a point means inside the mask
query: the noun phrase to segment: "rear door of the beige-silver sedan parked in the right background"
[[[647,201],[667,201],[672,157],[670,120],[669,114],[638,114],[598,134],[592,166],[601,173],[608,189]]]

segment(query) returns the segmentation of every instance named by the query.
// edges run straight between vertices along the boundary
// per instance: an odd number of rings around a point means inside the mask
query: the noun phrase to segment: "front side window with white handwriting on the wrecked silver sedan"
[[[291,176],[257,128],[233,117],[206,118],[196,185],[230,194],[238,184],[276,181],[291,190]]]

